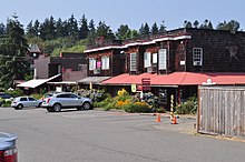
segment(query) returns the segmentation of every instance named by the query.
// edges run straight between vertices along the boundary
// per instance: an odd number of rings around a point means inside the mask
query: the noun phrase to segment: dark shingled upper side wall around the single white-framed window
[[[186,29],[192,39],[186,44],[186,71],[244,72],[245,32]],[[203,65],[193,65],[193,48],[203,49]]]

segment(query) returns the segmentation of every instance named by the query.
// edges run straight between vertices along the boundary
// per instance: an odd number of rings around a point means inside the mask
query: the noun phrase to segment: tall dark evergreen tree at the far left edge
[[[7,21],[7,33],[0,39],[0,85],[10,88],[16,79],[24,79],[29,74],[29,67],[26,62],[28,43],[24,39],[24,30],[18,17]]]

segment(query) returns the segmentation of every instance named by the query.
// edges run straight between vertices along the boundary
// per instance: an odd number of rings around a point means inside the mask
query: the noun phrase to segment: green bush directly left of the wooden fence
[[[176,108],[178,114],[195,114],[197,112],[198,101],[196,97],[190,97],[186,102]]]

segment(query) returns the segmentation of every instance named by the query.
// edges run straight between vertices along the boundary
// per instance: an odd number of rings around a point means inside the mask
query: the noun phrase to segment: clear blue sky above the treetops
[[[55,20],[69,19],[74,13],[79,20],[82,14],[95,23],[105,21],[114,31],[120,24],[139,29],[147,22],[160,24],[165,21],[168,30],[183,27],[185,20],[200,23],[205,19],[216,27],[224,20],[236,20],[245,30],[244,0],[3,0],[0,6],[0,22],[16,12],[19,21],[26,27],[31,20],[43,22],[52,16]]]

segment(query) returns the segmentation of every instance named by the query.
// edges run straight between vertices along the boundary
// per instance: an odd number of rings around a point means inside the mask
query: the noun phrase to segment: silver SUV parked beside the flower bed
[[[81,98],[70,92],[53,93],[52,97],[43,99],[41,107],[46,108],[49,112],[58,112],[61,109],[68,108],[77,108],[78,110],[94,108],[91,99]]]

